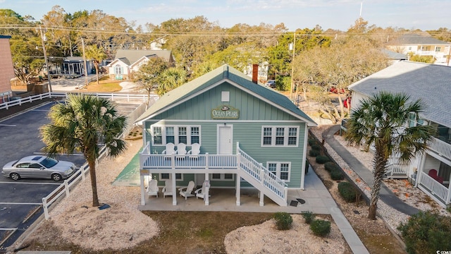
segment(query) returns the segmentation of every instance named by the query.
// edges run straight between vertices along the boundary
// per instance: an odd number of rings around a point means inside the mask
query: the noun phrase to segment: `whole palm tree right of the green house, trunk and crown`
[[[431,126],[409,126],[409,117],[413,114],[418,118],[421,111],[421,100],[410,102],[408,95],[390,92],[379,92],[362,99],[359,107],[352,111],[345,139],[351,145],[363,143],[366,147],[371,144],[376,147],[369,219],[376,219],[378,195],[390,155],[399,155],[407,162],[424,152],[432,139]]]

